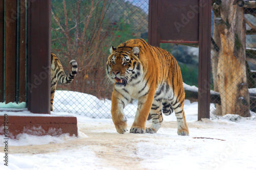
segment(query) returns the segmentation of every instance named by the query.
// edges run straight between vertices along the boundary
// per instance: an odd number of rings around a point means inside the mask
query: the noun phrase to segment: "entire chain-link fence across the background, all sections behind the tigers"
[[[210,117],[255,118],[256,15],[253,9],[234,5],[226,9],[231,11],[223,19],[225,7],[216,2],[212,4]],[[148,0],[52,0],[52,52],[59,56],[66,74],[72,59],[79,68],[71,85],[58,84],[54,111],[110,118],[113,84],[105,78],[109,48],[133,38],[147,41],[147,30]],[[161,47],[177,59],[183,81],[197,86],[198,48],[175,44]],[[124,113],[133,117],[136,108],[137,101],[132,101]]]

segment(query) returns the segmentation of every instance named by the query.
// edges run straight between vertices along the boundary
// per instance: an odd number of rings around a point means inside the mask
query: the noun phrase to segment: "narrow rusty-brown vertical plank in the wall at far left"
[[[16,96],[16,24],[17,3],[6,1],[6,45],[5,45],[5,102],[15,102]]]

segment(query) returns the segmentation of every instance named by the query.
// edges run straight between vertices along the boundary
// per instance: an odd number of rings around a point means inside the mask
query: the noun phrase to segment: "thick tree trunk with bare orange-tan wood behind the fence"
[[[236,1],[223,0],[215,10],[214,40],[220,51],[212,56],[215,91],[220,92],[217,115],[249,116],[249,92],[245,65],[245,21]]]

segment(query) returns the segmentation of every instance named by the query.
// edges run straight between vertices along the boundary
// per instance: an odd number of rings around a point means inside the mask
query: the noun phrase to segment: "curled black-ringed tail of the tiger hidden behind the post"
[[[61,65],[58,66],[58,68],[52,68],[55,71],[55,74],[57,75],[57,79],[62,84],[70,84],[77,74],[77,62],[75,60],[71,60],[70,64],[72,65],[72,71],[68,76],[66,76]]]

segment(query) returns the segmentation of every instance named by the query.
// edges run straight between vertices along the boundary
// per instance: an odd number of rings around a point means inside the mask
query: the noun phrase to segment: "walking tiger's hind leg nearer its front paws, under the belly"
[[[150,128],[146,128],[146,133],[157,133],[163,122],[162,100],[156,101],[154,99],[150,114],[152,116],[152,125]]]

